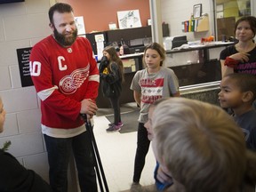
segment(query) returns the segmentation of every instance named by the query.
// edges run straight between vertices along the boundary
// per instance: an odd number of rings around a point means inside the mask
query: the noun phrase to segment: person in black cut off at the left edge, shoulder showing
[[[4,131],[5,110],[0,98],[0,133]],[[52,189],[36,172],[26,169],[11,154],[0,149],[0,191],[51,192]]]

